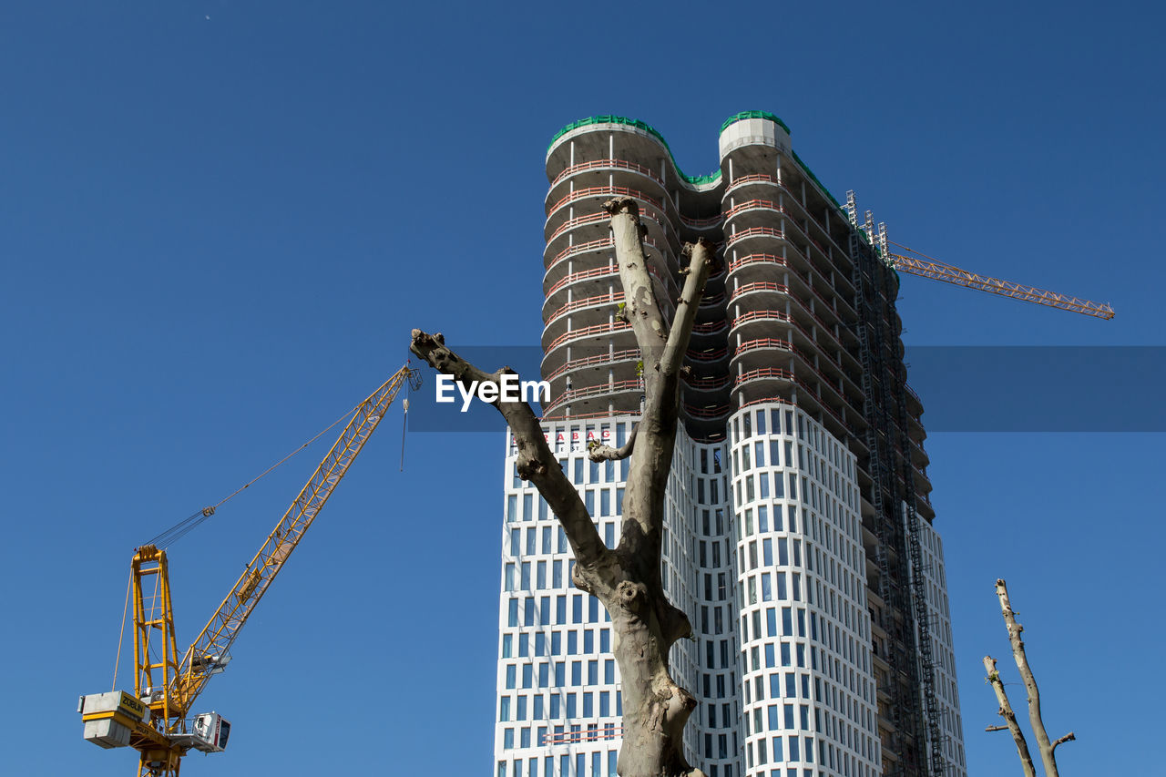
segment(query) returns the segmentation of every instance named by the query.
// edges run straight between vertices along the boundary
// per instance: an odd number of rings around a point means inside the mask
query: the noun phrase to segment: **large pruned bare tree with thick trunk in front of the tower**
[[[631,457],[624,492],[619,545],[609,548],[575,487],[547,444],[534,411],[524,401],[492,404],[510,425],[518,446],[518,473],[532,482],[559,518],[575,553],[573,582],[603,602],[611,615],[612,650],[623,679],[624,743],[621,777],[702,776],[683,754],[683,730],[696,699],[672,678],[668,651],[691,635],[683,610],[668,602],[660,574],[665,488],[672,469],[679,420],[680,383],[696,309],[715,254],[705,240],[684,246],[684,286],[669,323],[656,299],[644,256],[639,209],[631,198],[604,203],[611,215],[616,261],[626,306],[620,313],[632,327],[642,358],[646,404],[638,426],[620,448],[590,446],[592,461]],[[494,384],[513,373],[487,373],[459,358],[444,338],[413,330],[409,349],[434,369],[470,386]],[[482,394],[479,394],[482,396]]]

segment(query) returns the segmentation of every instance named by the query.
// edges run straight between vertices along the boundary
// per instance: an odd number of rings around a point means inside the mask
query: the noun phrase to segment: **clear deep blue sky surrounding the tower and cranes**
[[[1163,16],[1122,1],[7,4],[0,771],[133,769],[132,751],[83,742],[73,710],[110,687],[136,544],[367,394],[410,328],[538,343],[543,152],[575,119],[648,121],[701,174],[724,118],[773,111],[893,239],[1118,312],[907,278],[908,344],[1166,344]],[[1083,363],[1068,390],[1090,413],[1122,405],[1107,385]],[[490,769],[503,443],[410,433],[402,475],[396,413],[386,425],[203,696],[234,722],[230,750],[183,774]],[[997,576],[1051,730],[1079,736],[1062,774],[1163,774],[1146,761],[1161,442],[928,439],[974,775],[1018,774],[1007,735],[983,733],[981,657],[1007,657]],[[321,454],[171,548],[180,642]]]

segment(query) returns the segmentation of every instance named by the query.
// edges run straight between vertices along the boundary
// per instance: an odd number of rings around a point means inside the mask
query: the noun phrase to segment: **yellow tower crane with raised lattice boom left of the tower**
[[[181,656],[176,649],[166,550],[154,542],[136,548],[131,565],[134,692],[111,691],[80,698],[77,712],[84,721],[86,741],[103,748],[138,750],[139,777],[176,776],[189,750],[222,752],[226,748],[231,724],[215,712],[191,718],[191,707],[206,681],[231,660],[231,644],[259,600],[407,382],[414,387],[420,382],[420,372],[409,369],[408,364],[357,406],[295,502]],[[167,534],[171,539],[180,537],[213,512],[215,508],[206,508]]]

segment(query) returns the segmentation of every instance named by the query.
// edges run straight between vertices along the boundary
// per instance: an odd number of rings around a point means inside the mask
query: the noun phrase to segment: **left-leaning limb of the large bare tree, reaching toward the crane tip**
[[[428,335],[420,329],[414,329],[409,350],[438,372],[452,376],[466,390],[473,384],[492,383],[498,386],[496,396],[500,397],[500,377],[514,373],[510,368],[503,368],[496,373],[479,370],[447,348],[445,338],[441,334]],[[576,562],[580,566],[596,566],[609,561],[610,551],[603,544],[603,538],[599,537],[595,524],[591,523],[591,516],[588,514],[578,491],[563,474],[559,460],[555,459],[555,454],[547,444],[542,434],[542,424],[534,411],[525,401],[496,399],[491,404],[506,419],[506,424],[510,425],[514,435],[514,442],[518,444],[519,477],[534,483],[550,506],[550,511],[559,517],[563,525],[563,532],[575,552]],[[584,590],[595,593],[589,588],[584,588]]]

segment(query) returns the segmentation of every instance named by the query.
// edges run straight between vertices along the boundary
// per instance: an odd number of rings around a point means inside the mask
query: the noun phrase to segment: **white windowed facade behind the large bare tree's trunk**
[[[623,444],[631,416],[548,424],[547,440],[595,517],[609,547],[619,539],[627,461],[593,463],[588,440]],[[668,489],[663,582],[669,598],[693,617],[695,539],[684,474],[693,446],[683,433]],[[571,584],[567,537],[547,504],[515,471],[507,433],[499,603],[498,702],[494,728],[497,777],[614,777],[621,743],[619,670],[611,653],[611,618],[599,601]],[[673,648],[673,676],[695,687],[695,643]],[[696,732],[687,732],[694,752]],[[695,755],[694,755],[695,757]]]

